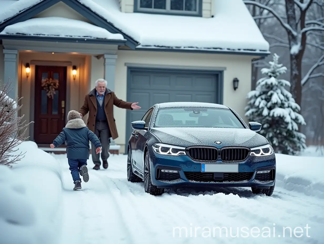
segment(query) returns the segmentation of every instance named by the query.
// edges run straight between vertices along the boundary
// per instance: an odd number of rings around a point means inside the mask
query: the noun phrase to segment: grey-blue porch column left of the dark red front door
[[[12,91],[7,94],[12,99],[15,99],[18,96],[18,67],[17,67],[17,57],[18,57],[18,51],[13,49],[4,49],[4,83],[11,82],[11,86],[9,87],[9,90],[12,89]]]

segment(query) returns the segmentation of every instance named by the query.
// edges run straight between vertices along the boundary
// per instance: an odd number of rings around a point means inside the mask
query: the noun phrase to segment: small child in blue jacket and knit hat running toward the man
[[[51,148],[58,147],[65,141],[67,143],[66,153],[69,162],[71,175],[75,184],[73,190],[81,189],[80,175],[84,182],[88,182],[89,174],[87,169],[87,159],[89,159],[89,141],[95,145],[96,153],[101,150],[101,144],[96,136],[81,119],[80,114],[71,110],[67,114],[67,120],[63,131],[54,139]],[[94,148],[92,149],[94,150]]]

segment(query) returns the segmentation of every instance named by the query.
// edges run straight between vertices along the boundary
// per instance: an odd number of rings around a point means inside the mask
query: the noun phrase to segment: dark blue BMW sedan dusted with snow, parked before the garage
[[[145,192],[177,187],[251,187],[271,196],[276,159],[260,134],[231,108],[214,103],[168,102],[132,122],[127,178]]]

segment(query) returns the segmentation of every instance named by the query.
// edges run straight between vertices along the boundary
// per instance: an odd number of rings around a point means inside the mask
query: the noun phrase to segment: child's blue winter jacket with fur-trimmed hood
[[[89,130],[82,119],[69,120],[63,131],[54,139],[53,144],[57,147],[65,141],[67,143],[66,157],[68,158],[89,159],[89,141],[95,145],[92,150],[101,146],[96,134]]]

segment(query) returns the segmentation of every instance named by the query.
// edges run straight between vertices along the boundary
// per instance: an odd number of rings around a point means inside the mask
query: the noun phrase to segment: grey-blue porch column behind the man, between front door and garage
[[[107,88],[111,91],[115,90],[115,67],[117,55],[104,55],[104,79],[107,81]],[[111,138],[110,145],[115,145],[115,141]]]

